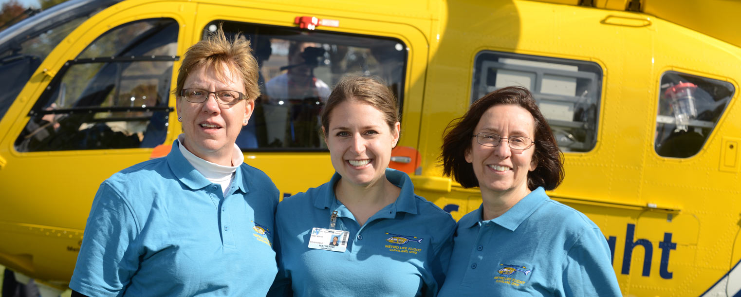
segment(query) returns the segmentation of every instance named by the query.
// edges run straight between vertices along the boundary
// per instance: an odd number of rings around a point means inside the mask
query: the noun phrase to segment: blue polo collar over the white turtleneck
[[[170,149],[170,153],[167,153],[167,165],[172,170],[173,174],[179,179],[180,182],[185,184],[191,190],[199,190],[209,186],[211,181],[205,178],[201,173],[187,161],[185,156],[180,153],[180,142],[176,139],[173,141],[173,147]],[[247,186],[244,184],[242,178],[241,168],[237,168],[236,176],[234,176],[233,184],[236,185],[239,190],[247,193]]]

